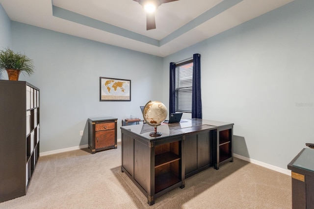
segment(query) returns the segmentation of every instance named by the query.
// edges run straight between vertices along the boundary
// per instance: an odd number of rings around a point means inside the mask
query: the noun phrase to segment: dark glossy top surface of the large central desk
[[[160,137],[149,136],[151,132],[154,132],[154,126],[150,126],[147,123],[132,126],[121,126],[121,130],[130,132],[141,139],[153,142],[177,135],[179,136],[203,130],[213,130],[230,125],[234,125],[234,123],[204,120],[199,118],[182,119],[180,123],[161,124],[157,126],[157,132],[162,133],[162,136]]]

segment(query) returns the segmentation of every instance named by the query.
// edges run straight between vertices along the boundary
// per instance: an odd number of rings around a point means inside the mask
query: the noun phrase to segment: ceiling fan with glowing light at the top
[[[162,3],[168,3],[176,0],[134,0],[141,4],[146,10],[146,30],[151,30],[156,28],[155,23],[155,10]]]

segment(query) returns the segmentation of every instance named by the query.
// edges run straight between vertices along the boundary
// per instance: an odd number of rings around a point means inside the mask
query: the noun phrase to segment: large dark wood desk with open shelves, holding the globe
[[[233,161],[233,123],[187,119],[161,125],[150,137],[148,124],[121,127],[121,171],[147,197],[149,205],[185,178],[210,166]]]

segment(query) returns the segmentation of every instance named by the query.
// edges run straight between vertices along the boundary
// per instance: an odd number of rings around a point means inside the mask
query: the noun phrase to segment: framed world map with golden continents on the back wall
[[[100,77],[100,101],[131,101],[131,80]]]

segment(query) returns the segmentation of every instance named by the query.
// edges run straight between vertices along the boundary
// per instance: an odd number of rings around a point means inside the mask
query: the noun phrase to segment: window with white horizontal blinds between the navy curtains
[[[176,112],[192,113],[193,59],[176,64]]]

